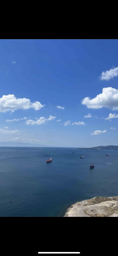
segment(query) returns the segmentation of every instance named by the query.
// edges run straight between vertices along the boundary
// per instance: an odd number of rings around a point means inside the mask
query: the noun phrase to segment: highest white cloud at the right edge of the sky
[[[100,76],[100,79],[109,81],[110,79],[113,79],[115,76],[118,76],[118,67],[113,67],[109,71],[107,70],[106,72],[103,71]]]

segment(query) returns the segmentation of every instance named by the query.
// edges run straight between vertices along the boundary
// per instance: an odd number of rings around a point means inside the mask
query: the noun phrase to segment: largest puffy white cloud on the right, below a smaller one
[[[97,95],[94,99],[86,97],[81,102],[87,108],[112,108],[118,110],[118,90],[112,87],[103,88],[102,94]]]

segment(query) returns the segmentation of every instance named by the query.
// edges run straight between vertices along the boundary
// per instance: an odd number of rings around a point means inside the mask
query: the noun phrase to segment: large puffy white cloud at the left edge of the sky
[[[39,101],[32,103],[30,99],[17,99],[13,94],[3,95],[0,98],[0,112],[6,113],[8,111],[14,112],[15,110],[33,108],[35,110],[40,110],[45,105],[42,105]]]

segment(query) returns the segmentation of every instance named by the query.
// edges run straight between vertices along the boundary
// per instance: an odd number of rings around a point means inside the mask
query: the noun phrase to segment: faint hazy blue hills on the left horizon
[[[0,147],[49,147],[49,145],[9,141],[0,142]]]

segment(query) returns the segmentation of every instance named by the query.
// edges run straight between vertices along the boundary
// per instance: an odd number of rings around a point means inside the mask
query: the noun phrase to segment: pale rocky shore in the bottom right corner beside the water
[[[118,217],[118,197],[94,197],[76,202],[63,217]]]

